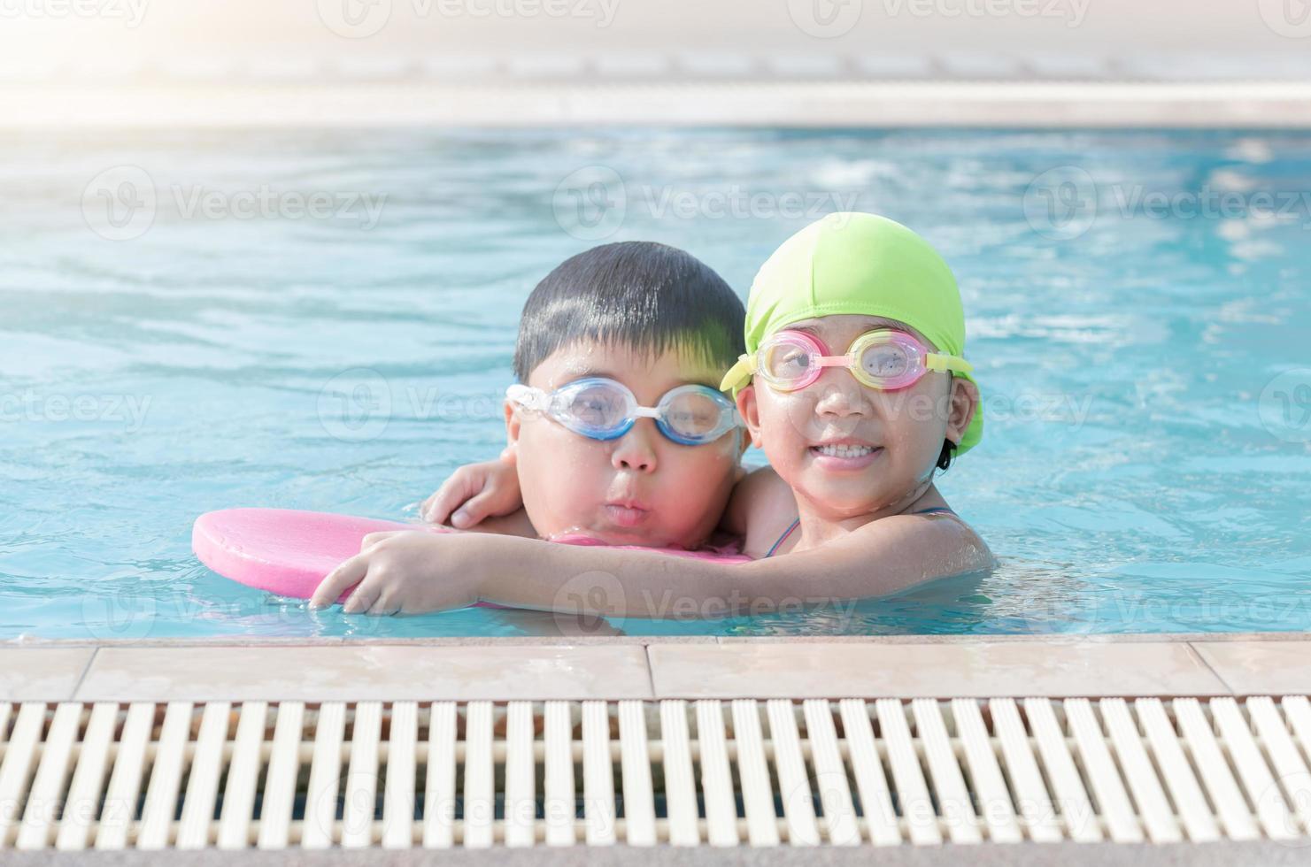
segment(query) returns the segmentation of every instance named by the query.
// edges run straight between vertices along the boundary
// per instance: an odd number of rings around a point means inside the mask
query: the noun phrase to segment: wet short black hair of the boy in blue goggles
[[[578,341],[653,356],[684,348],[728,371],[746,351],[745,320],[742,300],[692,254],[650,241],[606,244],[538,283],[519,320],[514,375],[527,382],[547,356]]]

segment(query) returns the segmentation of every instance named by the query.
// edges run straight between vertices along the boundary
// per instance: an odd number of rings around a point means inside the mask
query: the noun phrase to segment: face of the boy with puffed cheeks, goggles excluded
[[[625,347],[577,343],[528,376],[547,393],[600,376],[627,385],[641,406],[688,382],[718,386],[722,372],[670,350],[648,356]],[[623,436],[594,440],[544,414],[506,407],[506,434],[519,468],[523,507],[543,538],[590,536],[607,545],[696,547],[720,521],[745,445],[738,430],[705,445],[667,439],[640,418]]]

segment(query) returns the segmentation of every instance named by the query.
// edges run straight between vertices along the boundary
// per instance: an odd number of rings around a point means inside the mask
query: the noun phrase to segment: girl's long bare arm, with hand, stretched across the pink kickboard
[[[324,579],[311,605],[329,605],[358,584],[343,606],[349,614],[488,601],[573,614],[694,619],[882,596],[991,564],[982,540],[948,516],[886,517],[813,550],[737,564],[401,530],[366,537],[364,550]]]

